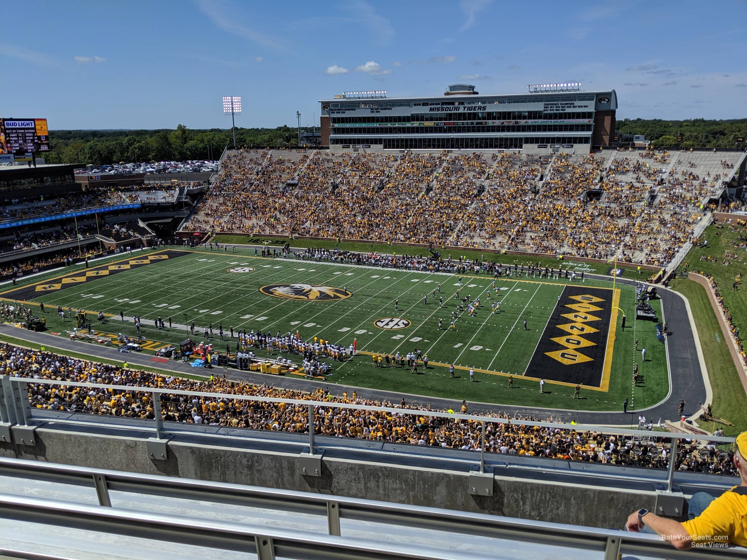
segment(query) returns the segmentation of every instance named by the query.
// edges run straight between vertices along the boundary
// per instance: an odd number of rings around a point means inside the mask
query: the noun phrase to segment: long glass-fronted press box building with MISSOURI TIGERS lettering
[[[526,93],[502,95],[480,95],[469,84],[450,85],[435,97],[347,92],[320,101],[321,143],[336,153],[365,148],[589,154],[614,143],[617,93],[581,91],[580,85],[527,86]]]

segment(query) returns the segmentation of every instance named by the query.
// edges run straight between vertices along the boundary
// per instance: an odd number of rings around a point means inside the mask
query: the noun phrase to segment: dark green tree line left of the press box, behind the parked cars
[[[226,146],[233,146],[230,129],[190,130],[181,124],[176,130],[58,130],[49,132],[49,140],[50,151],[43,156],[50,164],[217,160]],[[236,128],[236,145],[297,146],[298,128]]]

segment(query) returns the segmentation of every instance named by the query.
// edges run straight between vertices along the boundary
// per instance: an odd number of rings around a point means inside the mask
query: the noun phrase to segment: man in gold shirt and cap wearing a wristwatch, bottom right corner
[[[737,436],[734,466],[742,484],[718,498],[706,492],[692,494],[684,523],[641,509],[630,514],[625,528],[656,533],[678,550],[727,543],[747,547],[747,432]]]

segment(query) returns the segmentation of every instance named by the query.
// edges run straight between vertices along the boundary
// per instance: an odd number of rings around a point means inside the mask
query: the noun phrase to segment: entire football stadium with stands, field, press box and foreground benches
[[[744,148],[577,82],[319,103],[216,163],[0,120],[0,553],[743,558],[685,549],[747,484]]]

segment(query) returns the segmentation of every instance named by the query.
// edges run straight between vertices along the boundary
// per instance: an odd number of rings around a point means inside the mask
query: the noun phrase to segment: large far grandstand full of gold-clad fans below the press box
[[[241,151],[223,161],[186,229],[591,258],[610,258],[615,246],[624,261],[663,266],[692,239],[704,199],[731,169],[701,177],[701,167],[684,166],[683,157],[672,162],[669,152],[652,149],[594,155]],[[698,152],[707,161],[718,157]]]

